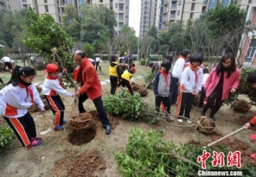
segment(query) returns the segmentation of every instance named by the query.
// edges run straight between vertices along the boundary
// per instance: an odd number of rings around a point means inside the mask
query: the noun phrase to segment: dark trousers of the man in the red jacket
[[[86,93],[79,96],[79,103],[78,103],[79,113],[86,112],[86,110],[84,109],[84,106],[83,106],[83,103],[84,103],[84,101],[86,101],[86,99],[88,99],[88,96]],[[93,99],[93,103],[94,103],[94,105],[97,109],[97,112],[99,114],[99,118],[100,118],[100,122],[102,123],[102,126],[104,128],[106,128],[108,125],[110,125],[110,122],[108,120],[107,112],[103,106],[101,96],[97,97],[96,99]]]

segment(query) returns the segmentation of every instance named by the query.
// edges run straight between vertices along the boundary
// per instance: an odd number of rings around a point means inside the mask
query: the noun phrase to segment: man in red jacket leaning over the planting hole
[[[77,50],[74,54],[74,59],[79,67],[74,71],[73,78],[81,85],[81,88],[76,93],[76,96],[79,97],[79,113],[86,112],[86,110],[84,110],[83,102],[88,98],[91,99],[97,109],[102,126],[106,129],[106,134],[110,134],[111,125],[102,103],[102,88],[97,71],[90,60],[85,56],[84,52]]]

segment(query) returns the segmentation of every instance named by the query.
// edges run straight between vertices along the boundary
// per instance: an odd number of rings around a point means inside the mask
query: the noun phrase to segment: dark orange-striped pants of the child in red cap
[[[50,106],[54,117],[54,125],[63,125],[64,110],[65,106],[60,98],[60,96],[44,96],[46,102]]]

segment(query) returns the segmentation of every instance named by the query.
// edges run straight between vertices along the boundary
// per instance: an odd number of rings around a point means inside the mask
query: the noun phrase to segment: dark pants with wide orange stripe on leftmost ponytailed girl
[[[8,118],[3,116],[3,118],[10,125],[13,132],[15,132],[22,146],[29,146],[32,142],[31,138],[36,137],[35,122],[29,112],[23,117]]]

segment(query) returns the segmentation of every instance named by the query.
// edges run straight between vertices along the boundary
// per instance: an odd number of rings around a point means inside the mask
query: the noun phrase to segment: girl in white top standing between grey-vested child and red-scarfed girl
[[[179,83],[182,71],[186,67],[186,59],[190,57],[191,52],[188,48],[183,49],[180,52],[179,59],[175,62],[173,71],[172,71],[172,94],[171,94],[171,104],[177,103],[177,96],[179,90]]]

